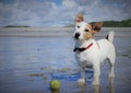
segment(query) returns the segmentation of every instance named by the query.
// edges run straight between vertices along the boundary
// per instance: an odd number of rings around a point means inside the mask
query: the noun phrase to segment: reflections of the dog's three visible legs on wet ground
[[[85,84],[79,84],[79,88],[81,88],[81,91],[79,93],[86,93],[86,85]],[[109,91],[108,93],[114,93],[114,78],[109,79]],[[100,85],[93,86],[93,93],[102,93]]]

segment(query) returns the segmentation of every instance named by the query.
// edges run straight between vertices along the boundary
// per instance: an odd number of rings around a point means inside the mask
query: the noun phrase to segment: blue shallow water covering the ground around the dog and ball
[[[71,36],[0,37],[0,93],[56,93],[49,89],[52,79],[61,81],[57,93],[130,93],[131,36],[116,36],[115,46],[115,79],[108,80],[105,62],[99,88],[91,85],[92,79],[78,86],[80,71]]]

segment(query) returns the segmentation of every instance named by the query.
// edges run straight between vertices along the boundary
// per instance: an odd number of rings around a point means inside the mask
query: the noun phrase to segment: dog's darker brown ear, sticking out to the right
[[[96,34],[100,31],[103,26],[103,22],[92,23],[91,25],[92,25],[93,34]]]

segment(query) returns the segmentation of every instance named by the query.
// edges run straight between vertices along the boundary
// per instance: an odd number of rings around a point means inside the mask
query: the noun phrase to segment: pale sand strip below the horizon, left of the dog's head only
[[[67,36],[73,27],[2,27],[0,36],[13,37],[40,37],[40,36]]]

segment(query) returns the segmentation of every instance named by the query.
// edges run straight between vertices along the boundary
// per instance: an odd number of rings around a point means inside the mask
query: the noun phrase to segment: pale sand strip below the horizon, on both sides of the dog
[[[109,31],[117,31],[116,36],[130,36],[131,27],[103,27],[98,36],[105,36]],[[0,27],[0,36],[10,37],[72,36],[73,32],[74,27]]]

